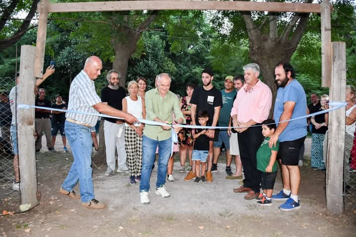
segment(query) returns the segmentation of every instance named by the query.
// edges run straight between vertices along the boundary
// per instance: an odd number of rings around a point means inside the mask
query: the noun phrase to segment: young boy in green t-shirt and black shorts
[[[273,119],[267,119],[262,122],[262,135],[264,135],[265,140],[257,151],[257,169],[261,171],[261,187],[263,193],[261,193],[259,197],[256,197],[256,199],[258,199],[257,204],[262,206],[271,206],[273,204],[271,196],[277,177],[276,158],[279,142],[277,141],[276,146],[269,148],[268,141],[275,129],[276,124]]]

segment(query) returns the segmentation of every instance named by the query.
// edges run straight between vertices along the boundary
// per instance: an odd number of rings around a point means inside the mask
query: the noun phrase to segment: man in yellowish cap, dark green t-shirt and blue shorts
[[[225,86],[225,88],[223,90],[221,90],[221,93],[223,96],[223,107],[220,110],[220,115],[219,115],[219,120],[218,120],[220,126],[228,126],[231,108],[233,105],[233,98],[237,94],[236,90],[234,89],[232,76],[227,76],[225,78],[224,86]],[[218,171],[218,159],[219,159],[219,155],[220,155],[221,147],[222,147],[223,143],[226,148],[226,162],[228,160],[231,160],[229,139],[230,138],[229,138],[229,134],[227,133],[227,129],[220,130],[218,141],[214,142],[214,160],[213,160],[213,167],[211,170],[212,172]],[[227,175],[232,175],[230,164],[227,166],[227,163],[226,163],[225,171],[226,171]]]

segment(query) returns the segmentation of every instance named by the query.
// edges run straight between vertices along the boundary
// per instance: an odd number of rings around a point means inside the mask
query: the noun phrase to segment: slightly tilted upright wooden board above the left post
[[[45,40],[47,36],[48,0],[41,0],[38,4],[40,12],[39,24],[37,28],[35,77],[42,78],[45,60]]]

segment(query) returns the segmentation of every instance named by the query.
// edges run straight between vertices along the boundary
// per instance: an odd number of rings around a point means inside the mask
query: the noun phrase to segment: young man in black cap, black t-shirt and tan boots
[[[207,111],[209,114],[209,121],[211,126],[218,126],[218,119],[220,109],[223,106],[223,97],[220,90],[215,88],[212,84],[214,79],[214,72],[210,68],[204,69],[202,72],[203,86],[194,89],[192,97],[190,99],[191,110],[190,117],[192,125],[199,124],[196,114],[198,111]],[[194,130],[192,130],[194,133]],[[210,138],[209,142],[209,157],[208,157],[208,172],[206,173],[206,179],[208,182],[213,182],[213,175],[211,168],[213,165],[214,156],[214,141],[218,139],[219,130],[209,129],[206,135]],[[185,181],[191,180],[196,177],[195,164],[192,164],[192,171],[184,178]]]

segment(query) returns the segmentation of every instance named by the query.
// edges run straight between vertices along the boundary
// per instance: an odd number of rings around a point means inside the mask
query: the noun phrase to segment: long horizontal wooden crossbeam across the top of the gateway
[[[50,3],[48,8],[48,12],[129,10],[235,10],[320,13],[320,4],[215,0],[132,0]]]

